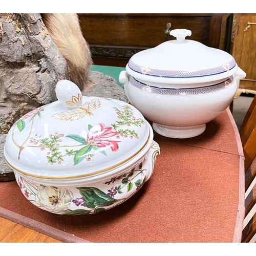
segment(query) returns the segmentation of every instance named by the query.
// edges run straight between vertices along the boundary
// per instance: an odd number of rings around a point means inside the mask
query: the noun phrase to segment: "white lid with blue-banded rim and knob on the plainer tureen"
[[[126,65],[131,76],[163,83],[208,82],[229,77],[238,67],[227,52],[185,39],[190,30],[175,29],[176,40],[136,53]]]

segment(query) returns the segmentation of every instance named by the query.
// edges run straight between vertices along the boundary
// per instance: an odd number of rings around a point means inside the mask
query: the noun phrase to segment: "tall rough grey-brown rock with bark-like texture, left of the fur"
[[[69,79],[39,13],[0,13],[0,134],[39,105],[56,100],[59,79]]]

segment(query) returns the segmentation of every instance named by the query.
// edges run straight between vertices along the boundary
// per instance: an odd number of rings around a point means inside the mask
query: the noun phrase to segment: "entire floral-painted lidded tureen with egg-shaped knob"
[[[10,129],[4,157],[25,197],[56,214],[91,214],[125,201],[151,176],[159,146],[126,102],[85,97],[68,80],[58,101]],[[135,178],[137,177],[137,178]]]

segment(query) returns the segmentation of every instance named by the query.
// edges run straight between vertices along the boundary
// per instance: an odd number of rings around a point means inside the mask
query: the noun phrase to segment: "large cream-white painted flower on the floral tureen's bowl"
[[[72,199],[73,194],[70,190],[47,186],[39,186],[35,196],[35,201],[39,206],[61,213],[68,210]]]

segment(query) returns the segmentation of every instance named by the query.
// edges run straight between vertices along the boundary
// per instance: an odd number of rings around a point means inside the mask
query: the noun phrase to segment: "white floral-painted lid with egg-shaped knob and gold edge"
[[[68,80],[57,83],[56,96],[7,135],[4,156],[19,172],[55,179],[94,175],[131,160],[148,143],[149,125],[132,105],[82,96]]]

